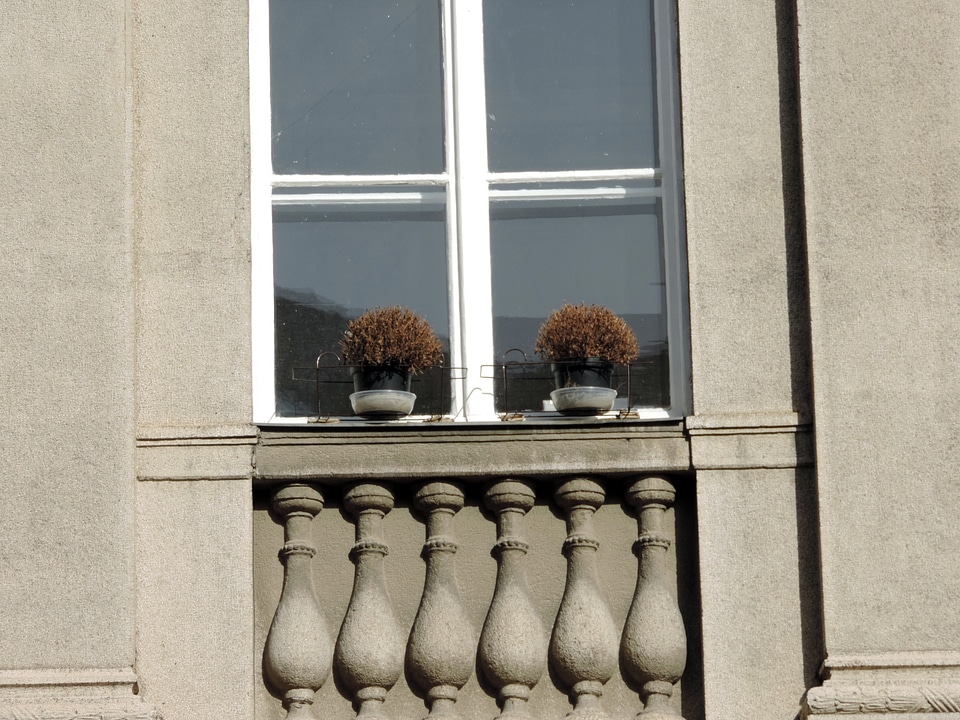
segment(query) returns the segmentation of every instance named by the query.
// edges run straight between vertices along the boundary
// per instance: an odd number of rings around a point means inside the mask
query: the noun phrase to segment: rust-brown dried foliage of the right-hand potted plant
[[[639,354],[637,336],[622,317],[602,305],[564,305],[554,311],[534,346],[545,360],[600,358],[627,363]]]

